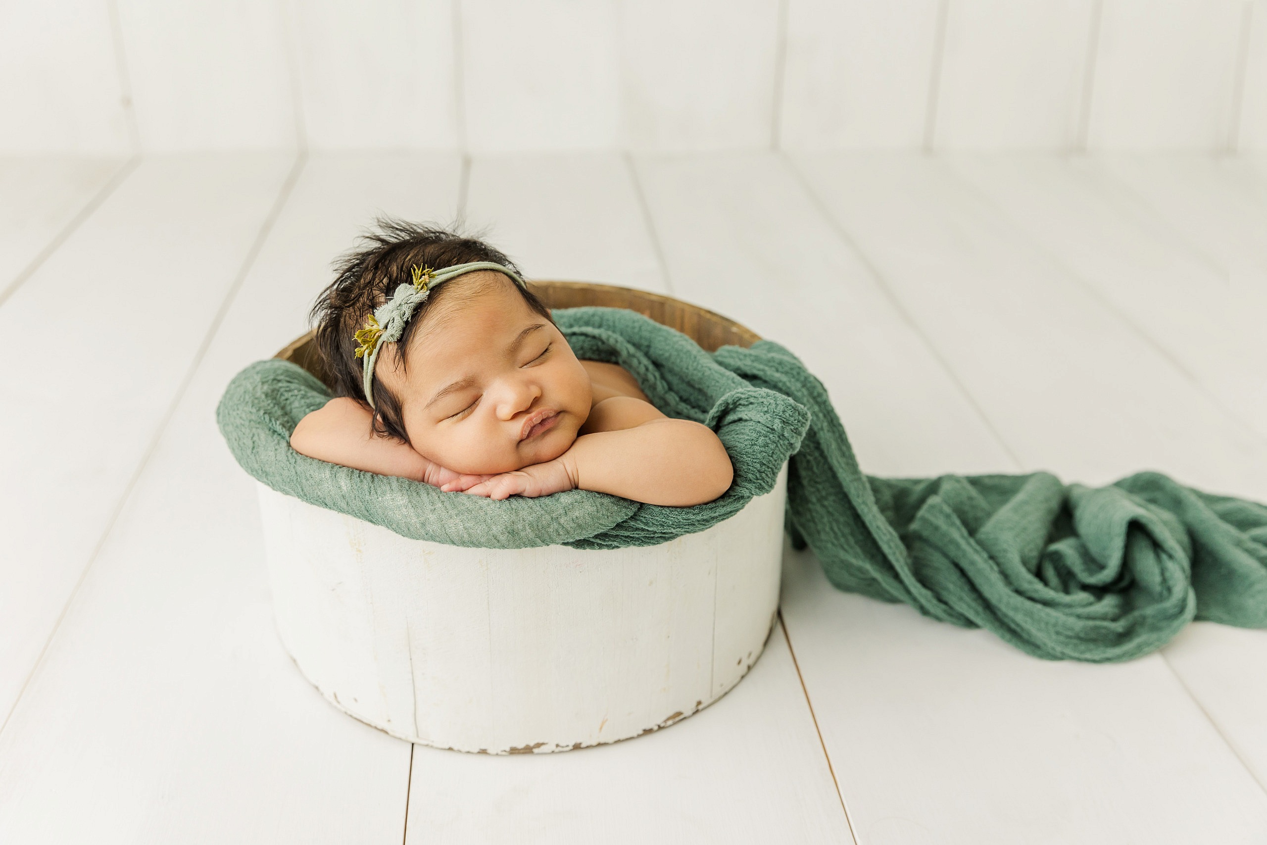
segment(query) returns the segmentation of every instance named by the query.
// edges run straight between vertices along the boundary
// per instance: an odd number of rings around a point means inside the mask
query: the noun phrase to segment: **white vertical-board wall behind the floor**
[[[0,8],[0,153],[1267,148],[1267,0]]]

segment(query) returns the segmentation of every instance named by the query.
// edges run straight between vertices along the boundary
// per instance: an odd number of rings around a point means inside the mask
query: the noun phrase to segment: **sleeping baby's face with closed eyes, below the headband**
[[[400,399],[413,448],[469,474],[559,457],[589,417],[589,375],[513,281],[483,271],[446,284],[464,281],[414,332],[408,367],[394,343],[379,356],[378,376]]]

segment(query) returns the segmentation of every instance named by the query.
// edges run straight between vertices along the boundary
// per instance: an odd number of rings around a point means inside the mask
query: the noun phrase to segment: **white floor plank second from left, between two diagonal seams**
[[[0,452],[0,712],[110,524],[290,165],[271,153],[147,161],[0,308],[4,337],[30,337],[51,313],[57,324],[34,364],[3,376],[4,393],[23,399],[0,414],[0,440],[22,443]],[[179,204],[188,214],[171,213]],[[77,307],[66,305],[68,290]]]

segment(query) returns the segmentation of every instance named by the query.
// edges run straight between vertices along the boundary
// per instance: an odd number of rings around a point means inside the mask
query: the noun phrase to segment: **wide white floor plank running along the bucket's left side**
[[[196,163],[222,190],[252,195],[232,172]],[[261,181],[248,161],[239,171]],[[214,409],[234,372],[302,329],[329,260],[375,210],[450,214],[459,172],[454,156],[308,161],[0,735],[0,840],[399,841],[409,746],[329,707],[281,649],[253,481],[224,448]],[[165,196],[152,209],[171,219]],[[156,237],[153,224],[138,232]]]

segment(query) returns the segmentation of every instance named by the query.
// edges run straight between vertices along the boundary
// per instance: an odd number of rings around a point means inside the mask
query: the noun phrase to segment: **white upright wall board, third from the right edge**
[[[953,0],[933,146],[1074,148],[1096,1]]]

